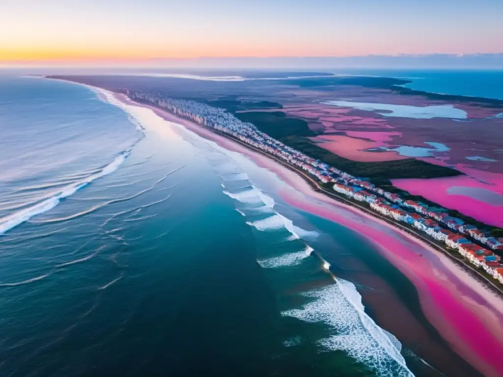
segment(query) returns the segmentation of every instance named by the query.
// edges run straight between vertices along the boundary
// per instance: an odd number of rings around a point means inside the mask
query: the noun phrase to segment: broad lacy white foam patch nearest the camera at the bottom
[[[337,335],[321,339],[326,350],[342,350],[383,377],[411,377],[403,356],[387,333],[364,312],[361,296],[355,286],[342,279],[337,284],[306,292],[303,296],[316,300],[302,309],[292,309],[284,316],[306,322],[323,322],[332,326]],[[395,338],[396,339],[396,338]]]

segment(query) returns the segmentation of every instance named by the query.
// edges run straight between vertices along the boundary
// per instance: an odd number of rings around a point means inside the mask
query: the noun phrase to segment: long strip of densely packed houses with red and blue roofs
[[[222,132],[270,153],[305,170],[321,183],[333,183],[335,192],[355,201],[368,203],[372,210],[398,222],[409,224],[427,233],[435,240],[444,242],[450,249],[457,250],[472,264],[482,268],[503,284],[503,265],[500,264],[500,256],[481,246],[487,246],[496,252],[498,250],[503,252],[503,238],[490,237],[475,226],[465,224],[461,219],[449,216],[444,212],[445,209],[405,200],[398,194],[389,193],[363,178],[352,176],[322,161],[313,159],[260,132],[253,124],[240,121],[225,109],[190,100],[164,98],[156,93],[131,92],[129,90],[125,90],[125,92],[134,101],[156,105],[175,115],[188,118],[199,125]],[[444,227],[441,227],[439,223]]]

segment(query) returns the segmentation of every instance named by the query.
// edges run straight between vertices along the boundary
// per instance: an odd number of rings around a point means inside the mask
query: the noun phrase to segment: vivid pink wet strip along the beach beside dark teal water
[[[476,281],[446,256],[373,220],[348,216],[326,203],[281,193],[290,205],[356,230],[414,284],[425,315],[452,347],[488,376],[503,375],[503,313],[499,298],[482,292]],[[477,287],[478,286],[478,287]],[[496,301],[494,301],[496,300]],[[496,304],[496,305],[494,305]]]

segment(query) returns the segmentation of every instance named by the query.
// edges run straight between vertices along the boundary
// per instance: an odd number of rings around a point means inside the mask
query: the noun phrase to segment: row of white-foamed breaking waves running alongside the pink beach
[[[197,143],[196,143],[197,144]],[[208,151],[203,154],[215,172],[223,179],[222,193],[231,198],[236,205],[236,211],[245,218],[246,224],[255,229],[259,244],[275,245],[276,255],[270,255],[271,249],[264,254],[259,246],[257,262],[266,269],[274,271],[285,279],[284,272],[294,269],[297,277],[309,274],[303,265],[317,266],[320,273],[327,272],[332,282],[326,282],[320,289],[301,291],[300,296],[315,299],[302,308],[292,308],[282,312],[283,316],[298,318],[306,322],[321,322],[329,325],[335,334],[320,338],[317,345],[321,350],[342,350],[358,362],[366,365],[380,376],[411,376],[401,355],[400,342],[390,333],[381,329],[365,313],[361,296],[354,284],[337,278],[330,272],[330,264],[323,259],[311,246],[309,241],[320,234],[315,230],[306,230],[294,225],[294,222],[276,210],[275,200],[260,190],[250,179],[249,174],[242,169],[238,161],[232,159],[232,154]],[[225,173],[229,164],[234,164],[232,173]],[[241,179],[236,179],[238,176]],[[229,179],[230,178],[230,179]],[[269,255],[268,255],[269,254]],[[314,259],[310,259],[313,258]],[[310,260],[310,262],[308,262]],[[312,272],[311,272],[312,273]],[[297,278],[296,277],[296,278]],[[272,276],[274,279],[274,276]],[[285,284],[282,281],[282,284]],[[294,284],[292,282],[292,284]],[[302,343],[296,337],[295,342],[285,340],[285,346],[295,346]]]

